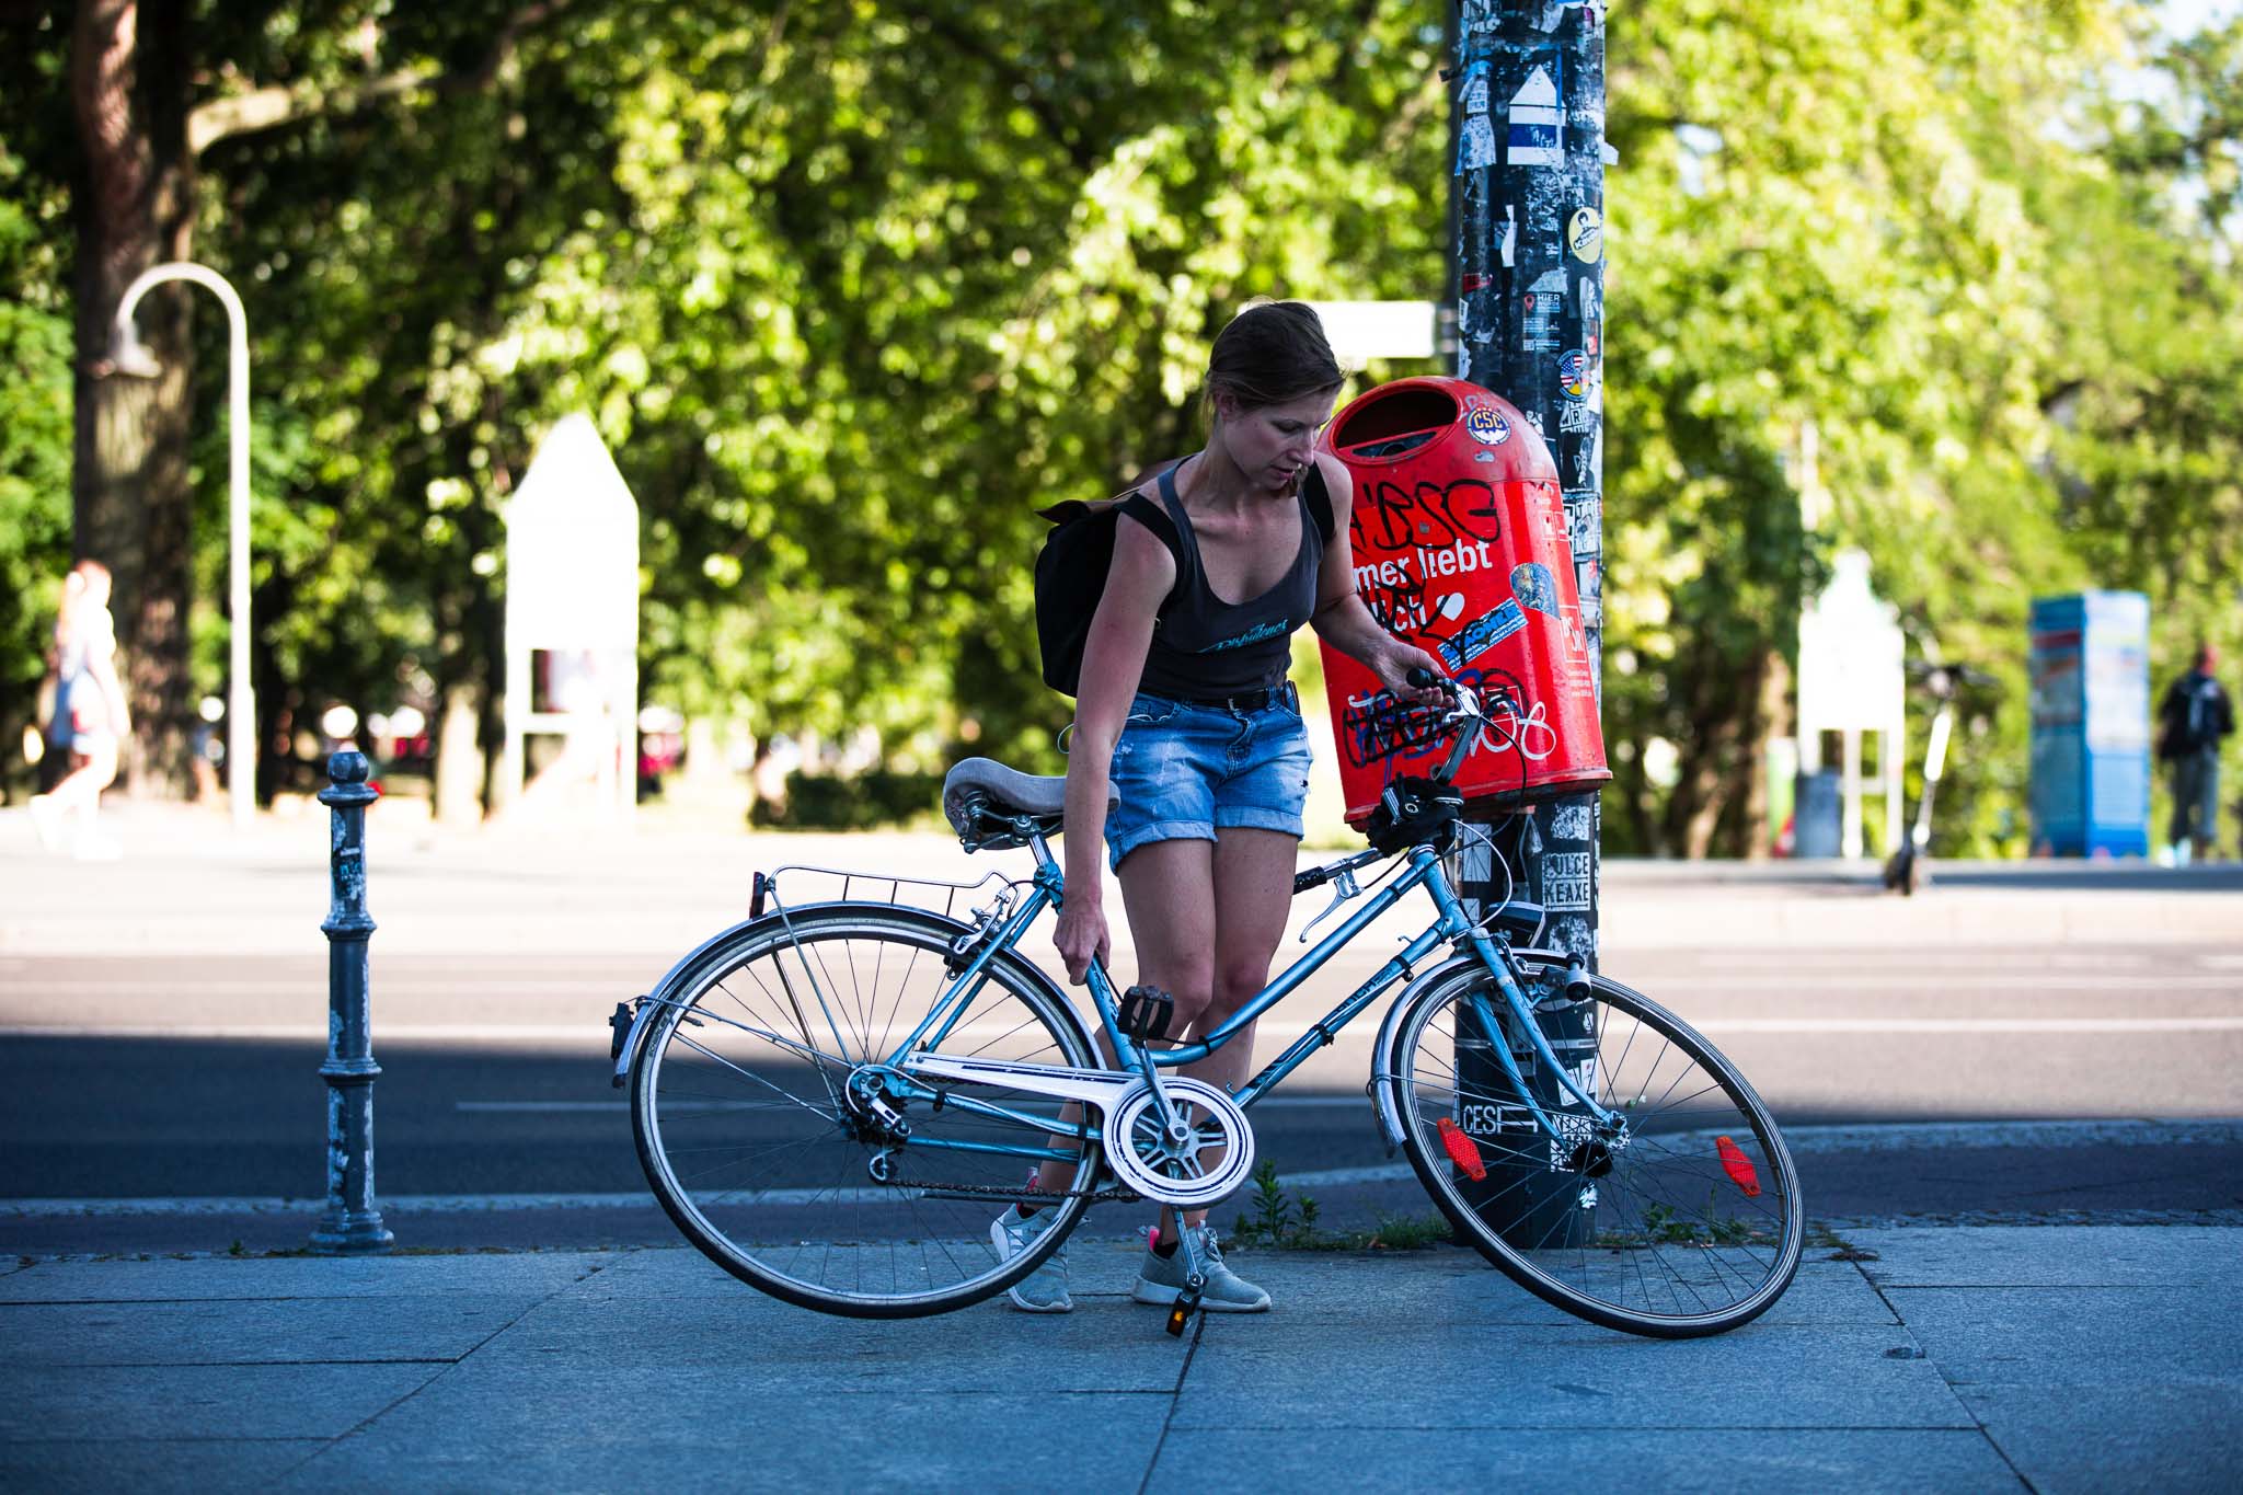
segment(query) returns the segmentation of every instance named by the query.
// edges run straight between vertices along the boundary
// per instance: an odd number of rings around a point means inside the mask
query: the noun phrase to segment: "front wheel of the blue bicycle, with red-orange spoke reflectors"
[[[1608,1329],[1693,1338],[1765,1313],[1801,1248],[1799,1172],[1767,1107],[1658,1002],[1593,977],[1568,1004],[1563,966],[1521,964],[1527,1000],[1563,1011],[1552,1027],[1568,1033],[1557,1044],[1568,1071],[1619,1125],[1599,1130],[1570,1094],[1539,1085],[1496,979],[1460,966],[1411,1000],[1386,1053],[1427,1192],[1514,1282]],[[1559,1136],[1492,1042],[1512,1049]]]

